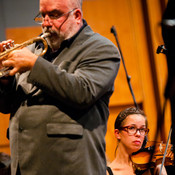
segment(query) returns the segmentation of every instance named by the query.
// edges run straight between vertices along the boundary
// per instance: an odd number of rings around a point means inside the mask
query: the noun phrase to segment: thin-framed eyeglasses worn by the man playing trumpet
[[[47,15],[48,15],[48,17],[49,17],[50,20],[57,20],[57,19],[61,18],[62,16],[65,16],[67,14],[70,14],[71,12],[73,12],[76,9],[77,8],[74,8],[74,9],[68,11],[67,13],[63,13],[63,14],[60,14],[60,11],[58,11],[58,10],[54,10],[52,12],[49,12]],[[36,15],[36,17],[34,18],[34,21],[37,24],[42,24],[44,22],[44,20],[45,20],[45,16],[46,16],[46,14],[42,14],[41,12],[39,12]]]

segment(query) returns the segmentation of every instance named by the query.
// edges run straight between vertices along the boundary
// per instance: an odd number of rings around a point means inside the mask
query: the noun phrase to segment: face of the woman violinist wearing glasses
[[[122,123],[122,127],[129,126],[131,130],[135,127],[136,129],[146,128],[146,121],[144,116],[140,114],[129,115]],[[116,138],[120,140],[119,144],[122,144],[129,154],[138,151],[144,141],[145,135],[137,130],[136,133],[129,134],[127,129],[115,130]]]

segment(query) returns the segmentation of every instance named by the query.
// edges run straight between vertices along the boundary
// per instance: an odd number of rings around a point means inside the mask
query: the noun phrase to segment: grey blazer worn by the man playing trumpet
[[[32,48],[35,53],[38,51]],[[115,45],[86,26],[53,63],[1,90],[11,113],[11,171],[22,175],[105,175],[108,103],[120,64]]]

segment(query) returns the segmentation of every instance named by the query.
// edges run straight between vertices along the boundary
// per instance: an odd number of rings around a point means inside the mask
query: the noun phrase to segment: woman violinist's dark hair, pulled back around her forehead
[[[132,115],[132,114],[140,114],[143,117],[145,117],[146,127],[148,126],[148,122],[147,122],[147,118],[146,118],[145,113],[139,108],[129,107],[129,108],[124,109],[123,111],[121,111],[118,114],[118,116],[115,120],[114,128],[120,129],[122,127],[123,121],[128,117],[128,115]]]

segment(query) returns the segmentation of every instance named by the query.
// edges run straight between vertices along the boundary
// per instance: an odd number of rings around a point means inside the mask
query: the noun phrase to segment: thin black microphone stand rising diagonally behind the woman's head
[[[114,26],[111,27],[111,33],[114,34],[114,37],[115,37],[117,45],[118,45],[118,49],[119,49],[121,59],[122,59],[122,62],[123,62],[123,67],[124,67],[124,70],[125,70],[125,73],[126,73],[126,79],[127,79],[128,85],[129,85],[129,89],[130,89],[132,98],[134,100],[134,105],[135,105],[136,108],[139,108],[138,104],[136,103],[134,92],[133,92],[133,89],[132,89],[132,86],[131,86],[131,76],[129,76],[128,73],[127,73],[126,66],[125,66],[125,61],[124,61],[124,58],[123,58],[123,55],[122,55],[122,52],[121,52],[121,48],[120,48],[120,44],[119,44],[119,41],[118,41],[118,38],[117,38],[117,32],[116,32],[116,29],[115,29]]]

